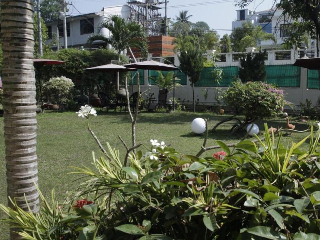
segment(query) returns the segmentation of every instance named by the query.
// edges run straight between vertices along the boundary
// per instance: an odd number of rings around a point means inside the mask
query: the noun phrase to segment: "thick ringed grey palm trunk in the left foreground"
[[[38,212],[33,14],[33,0],[1,1],[7,194],[28,211],[26,198]]]

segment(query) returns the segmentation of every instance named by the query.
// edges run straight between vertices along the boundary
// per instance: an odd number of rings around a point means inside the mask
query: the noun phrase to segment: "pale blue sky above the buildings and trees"
[[[159,2],[161,2],[160,0]],[[164,1],[164,0],[163,0]],[[103,7],[126,4],[127,0],[72,0],[74,7],[69,6],[70,15],[98,12]],[[255,0],[248,8],[256,12],[268,10],[272,7],[273,0]],[[164,16],[163,9],[160,10]],[[204,21],[210,28],[216,30],[220,37],[231,33],[231,22],[236,20],[235,2],[233,0],[168,0],[168,18],[175,20],[179,11],[188,10],[192,15],[191,22]],[[79,13],[80,12],[80,13]]]

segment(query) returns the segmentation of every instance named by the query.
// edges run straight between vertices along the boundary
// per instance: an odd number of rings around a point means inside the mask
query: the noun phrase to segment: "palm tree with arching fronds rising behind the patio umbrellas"
[[[102,28],[107,28],[112,34],[111,37],[100,34]],[[93,41],[104,41],[110,44],[118,52],[118,60],[120,60],[121,52],[129,47],[137,47],[141,51],[141,55],[146,57],[148,54],[147,37],[145,29],[136,23],[128,22],[118,15],[113,15],[110,19],[104,19],[100,22],[98,33],[88,38],[88,43]],[[117,90],[119,90],[119,72],[117,72]]]

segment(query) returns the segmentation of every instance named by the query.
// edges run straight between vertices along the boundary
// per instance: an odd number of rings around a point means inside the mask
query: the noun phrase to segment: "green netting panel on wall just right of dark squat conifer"
[[[278,87],[300,87],[300,67],[266,65],[267,83]]]

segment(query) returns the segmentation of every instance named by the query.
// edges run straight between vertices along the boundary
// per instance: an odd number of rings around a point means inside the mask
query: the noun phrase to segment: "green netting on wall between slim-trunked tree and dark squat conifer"
[[[196,87],[228,87],[238,76],[238,67],[220,67],[223,70],[222,81],[218,84],[212,77],[213,68],[203,68],[200,80],[195,84]]]

